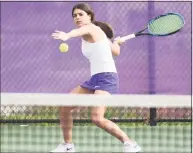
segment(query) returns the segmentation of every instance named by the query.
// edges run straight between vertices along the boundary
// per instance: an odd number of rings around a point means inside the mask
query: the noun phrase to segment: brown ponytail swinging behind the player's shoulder
[[[114,31],[110,24],[100,21],[94,21],[93,24],[100,27],[109,39],[112,39],[114,37]]]

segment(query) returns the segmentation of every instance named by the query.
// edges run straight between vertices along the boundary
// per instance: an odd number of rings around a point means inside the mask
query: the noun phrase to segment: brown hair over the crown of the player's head
[[[88,15],[91,16],[91,22],[94,21],[94,11],[93,11],[92,7],[89,4],[87,4],[87,3],[76,4],[72,9],[72,16],[73,16],[73,13],[74,13],[75,9],[83,10],[84,12],[86,12]]]

